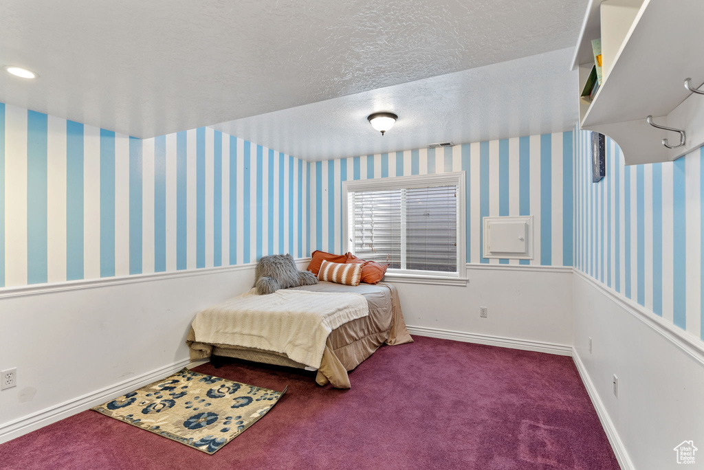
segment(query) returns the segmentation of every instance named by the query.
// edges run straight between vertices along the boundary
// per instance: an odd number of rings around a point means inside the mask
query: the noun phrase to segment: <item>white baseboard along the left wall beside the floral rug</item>
[[[206,361],[203,361],[206,362]],[[188,359],[180,360],[168,364],[164,367],[159,367],[153,371],[146,372],[139,376],[131,377],[115,385],[101,388],[87,395],[65,401],[58,405],[48,407],[39,412],[29,414],[25,417],[15,419],[0,426],[0,443],[7,442],[14,438],[18,438],[23,434],[42,428],[48,424],[55,423],[61,419],[70,417],[73,414],[80,413],[86,409],[90,409],[96,405],[100,405],[108,400],[118,398],[120,395],[125,395],[132,390],[143,387],[151,382],[157,381],[166,376],[170,376],[176,371],[180,371],[184,367],[196,367],[201,361],[191,364]]]

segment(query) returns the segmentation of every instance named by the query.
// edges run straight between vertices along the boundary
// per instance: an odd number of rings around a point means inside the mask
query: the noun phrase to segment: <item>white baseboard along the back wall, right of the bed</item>
[[[465,331],[429,328],[427,326],[408,326],[408,331],[410,334],[415,334],[418,336],[451,339],[453,341],[463,341],[465,343],[486,344],[490,346],[499,346],[501,348],[520,349],[525,351],[547,352],[548,354],[556,354],[561,356],[572,355],[572,346],[566,344],[505,338],[503,336],[467,333]]]

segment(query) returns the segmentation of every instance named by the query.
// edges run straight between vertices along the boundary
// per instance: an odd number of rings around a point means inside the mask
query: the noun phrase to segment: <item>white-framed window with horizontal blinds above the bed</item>
[[[396,279],[465,275],[465,173],[343,184],[347,249]]]

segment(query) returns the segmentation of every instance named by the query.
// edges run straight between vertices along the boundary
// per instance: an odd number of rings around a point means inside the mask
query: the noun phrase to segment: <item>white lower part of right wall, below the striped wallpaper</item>
[[[704,464],[704,348],[698,338],[577,272],[573,296],[575,362],[622,467],[677,469],[673,449],[683,440],[694,440]]]

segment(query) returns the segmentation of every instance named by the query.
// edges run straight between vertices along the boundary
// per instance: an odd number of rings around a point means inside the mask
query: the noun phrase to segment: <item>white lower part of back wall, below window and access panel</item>
[[[395,283],[412,334],[570,354],[572,268],[467,265],[467,277],[466,287]]]

